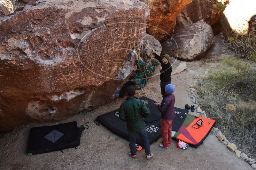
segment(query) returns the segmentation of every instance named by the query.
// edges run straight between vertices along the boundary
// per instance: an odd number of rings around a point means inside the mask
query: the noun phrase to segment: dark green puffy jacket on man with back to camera
[[[142,131],[145,128],[144,117],[149,114],[148,107],[135,96],[129,96],[119,109],[119,118],[127,122],[129,131]]]

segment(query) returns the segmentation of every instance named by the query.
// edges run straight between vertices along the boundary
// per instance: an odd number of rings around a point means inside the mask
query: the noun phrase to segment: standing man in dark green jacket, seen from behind
[[[144,118],[150,114],[150,110],[142,100],[134,96],[135,89],[133,86],[128,86],[126,91],[128,97],[120,106],[119,118],[127,123],[129,146],[131,149],[129,155],[132,158],[136,158],[136,136],[138,133],[144,144],[146,158],[150,159],[153,154],[150,152],[146,124],[144,122]]]

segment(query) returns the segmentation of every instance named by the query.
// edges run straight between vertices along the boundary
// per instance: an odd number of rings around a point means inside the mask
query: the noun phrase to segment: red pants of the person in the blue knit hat
[[[161,132],[162,132],[164,147],[166,148],[172,142],[172,124],[173,124],[173,120],[162,119]]]

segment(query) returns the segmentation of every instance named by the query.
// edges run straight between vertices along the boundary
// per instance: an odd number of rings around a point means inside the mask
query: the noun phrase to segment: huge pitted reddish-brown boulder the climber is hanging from
[[[111,101],[148,15],[139,1],[52,0],[0,16],[0,131]]]

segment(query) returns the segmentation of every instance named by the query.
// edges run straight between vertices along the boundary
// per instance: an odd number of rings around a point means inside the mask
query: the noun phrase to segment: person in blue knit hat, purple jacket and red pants
[[[167,84],[165,87],[166,95],[160,103],[155,103],[158,110],[161,112],[162,123],[161,123],[161,133],[163,138],[163,144],[159,144],[162,148],[168,148],[172,142],[172,123],[175,118],[174,103],[175,96],[173,92],[175,91],[175,86],[173,84]]]

